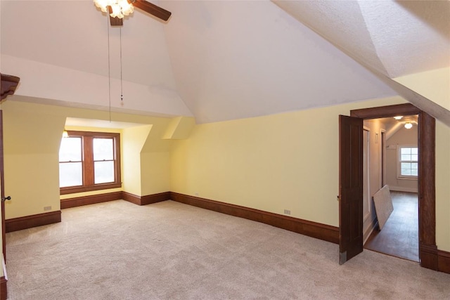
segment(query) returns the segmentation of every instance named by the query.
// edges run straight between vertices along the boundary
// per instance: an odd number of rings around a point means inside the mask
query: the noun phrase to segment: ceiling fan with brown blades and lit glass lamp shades
[[[94,4],[101,8],[101,11],[104,13],[109,13],[111,26],[124,25],[124,15],[133,13],[134,7],[164,21],[169,20],[170,15],[172,15],[170,11],[166,11],[164,8],[160,8],[160,6],[156,6],[146,0],[94,0]]]

